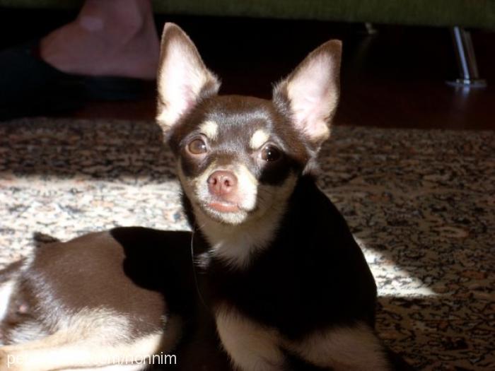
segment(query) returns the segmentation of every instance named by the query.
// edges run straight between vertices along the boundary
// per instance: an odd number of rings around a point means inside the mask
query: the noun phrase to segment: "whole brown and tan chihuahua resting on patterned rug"
[[[135,360],[181,349],[181,370],[408,370],[376,336],[371,271],[315,184],[341,54],[325,42],[272,100],[218,95],[167,23],[156,122],[192,232],[115,228],[9,266],[0,371],[141,370],[151,358]],[[109,361],[122,355],[134,362]]]

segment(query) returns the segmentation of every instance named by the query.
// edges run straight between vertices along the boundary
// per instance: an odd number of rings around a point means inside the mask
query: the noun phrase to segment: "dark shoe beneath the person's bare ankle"
[[[0,52],[0,121],[57,114],[89,100],[135,100],[146,81],[64,73],[40,58],[39,41]]]

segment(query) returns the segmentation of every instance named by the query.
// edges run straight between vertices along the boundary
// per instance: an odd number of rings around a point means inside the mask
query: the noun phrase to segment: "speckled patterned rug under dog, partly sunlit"
[[[335,127],[320,185],[379,287],[378,332],[423,370],[495,370],[495,132]],[[187,228],[150,122],[0,123],[0,266],[33,232]]]

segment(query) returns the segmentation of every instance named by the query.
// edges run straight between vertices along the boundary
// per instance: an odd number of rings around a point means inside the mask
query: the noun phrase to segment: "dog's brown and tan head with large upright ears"
[[[222,96],[190,38],[165,25],[157,122],[195,211],[235,225],[286,203],[330,136],[341,49],[336,40],[315,49],[275,86],[272,100]]]

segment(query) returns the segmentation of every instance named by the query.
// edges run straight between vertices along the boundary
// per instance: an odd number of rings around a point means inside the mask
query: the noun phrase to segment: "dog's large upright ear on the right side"
[[[318,151],[330,136],[340,90],[342,43],[325,42],[274,88],[274,103],[289,111],[296,130]]]

